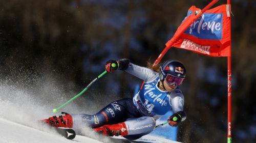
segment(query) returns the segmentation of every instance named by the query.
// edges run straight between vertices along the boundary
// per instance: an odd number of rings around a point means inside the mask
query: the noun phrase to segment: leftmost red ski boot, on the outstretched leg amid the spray
[[[69,113],[61,112],[61,114],[65,113],[65,116],[53,116],[49,119],[40,120],[42,123],[47,123],[49,126],[64,127],[64,128],[72,128],[73,127],[73,118]]]

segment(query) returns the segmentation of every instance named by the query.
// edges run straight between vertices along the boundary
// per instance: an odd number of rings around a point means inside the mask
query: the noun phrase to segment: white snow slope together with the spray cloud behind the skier
[[[62,137],[57,132],[49,129],[45,125],[38,123],[38,120],[46,119],[60,113],[53,114],[51,111],[56,105],[61,105],[70,97],[63,95],[75,95],[75,93],[63,93],[61,86],[50,84],[54,82],[42,82],[38,85],[17,86],[8,81],[0,81],[0,142],[1,143],[49,143],[49,142],[127,142],[127,140],[111,139],[95,134],[92,129],[84,129],[83,136],[76,135],[73,140]],[[56,82],[55,82],[56,83]],[[18,84],[20,85],[20,84]],[[35,88],[36,86],[36,88]],[[34,91],[36,90],[36,92]],[[85,105],[90,104],[84,103]],[[72,102],[63,111],[71,113],[84,112],[84,107]],[[95,107],[87,107],[88,113],[94,112]],[[146,135],[133,142],[175,142],[158,136]]]

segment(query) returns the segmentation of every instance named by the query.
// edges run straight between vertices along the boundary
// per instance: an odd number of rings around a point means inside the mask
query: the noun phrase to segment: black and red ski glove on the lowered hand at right
[[[184,111],[179,111],[170,116],[167,121],[170,126],[176,127],[180,124],[181,121],[184,121],[185,119],[186,113]]]

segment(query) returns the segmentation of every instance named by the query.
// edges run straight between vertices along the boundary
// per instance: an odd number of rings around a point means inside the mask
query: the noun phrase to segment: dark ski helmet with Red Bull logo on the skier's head
[[[186,69],[180,61],[168,60],[168,61],[165,61],[160,67],[160,72],[159,72],[160,80],[163,81],[167,75],[172,75],[174,77],[182,78],[182,80],[180,81],[180,84],[181,84],[181,82],[186,76]]]

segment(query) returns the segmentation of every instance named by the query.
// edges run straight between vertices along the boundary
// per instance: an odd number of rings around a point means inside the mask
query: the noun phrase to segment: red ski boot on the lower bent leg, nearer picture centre
[[[94,131],[106,136],[126,136],[128,134],[126,125],[124,122],[114,125],[104,125],[99,128],[94,128]]]

